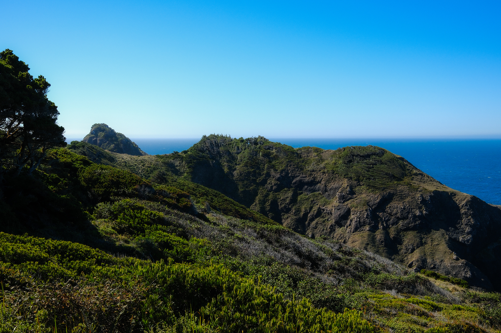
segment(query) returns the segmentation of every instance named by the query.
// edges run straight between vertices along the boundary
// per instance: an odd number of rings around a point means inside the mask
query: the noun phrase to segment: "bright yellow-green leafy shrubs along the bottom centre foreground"
[[[222,265],[199,267],[157,262],[100,270],[109,276],[132,273],[141,276],[145,283],[155,283],[150,293],[158,298],[147,301],[145,309],[145,313],[150,314],[145,319],[150,326],[161,321],[163,315],[158,309],[167,302],[167,307],[178,316],[198,311],[200,321],[220,332],[374,332],[374,327],[357,311],[337,315],[313,307],[307,299],[285,301],[282,294],[276,294],[269,285],[240,277]]]

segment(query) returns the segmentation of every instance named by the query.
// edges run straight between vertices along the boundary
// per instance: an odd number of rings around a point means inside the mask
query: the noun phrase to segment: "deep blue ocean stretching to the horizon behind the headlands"
[[[438,139],[291,139],[268,138],[294,148],[314,146],[337,149],[374,145],[407,159],[444,185],[474,195],[487,203],[501,205],[501,140]],[[69,139],[68,142],[74,139]],[[81,139],[75,139],[81,140]],[[132,139],[151,155],[183,151],[196,139]]]

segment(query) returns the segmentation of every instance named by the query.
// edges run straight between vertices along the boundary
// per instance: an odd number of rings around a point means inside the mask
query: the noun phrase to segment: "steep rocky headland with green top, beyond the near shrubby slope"
[[[113,156],[154,182],[201,184],[309,237],[501,289],[501,210],[383,148],[294,149],[210,135],[181,153]]]

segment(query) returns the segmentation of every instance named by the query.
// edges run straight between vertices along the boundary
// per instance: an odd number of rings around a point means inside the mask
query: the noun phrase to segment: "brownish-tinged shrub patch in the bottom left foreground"
[[[52,326],[58,332],[88,332],[98,328],[101,332],[130,332],[140,320],[145,292],[147,288],[139,281],[124,285],[112,280],[90,282],[80,278],[11,288],[6,302],[17,303],[17,314],[22,314],[23,320],[33,323],[38,331]]]

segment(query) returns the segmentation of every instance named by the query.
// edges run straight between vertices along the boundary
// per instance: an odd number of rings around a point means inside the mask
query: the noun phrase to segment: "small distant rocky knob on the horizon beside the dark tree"
[[[115,132],[106,124],[94,124],[89,134],[82,140],[104,150],[135,156],[148,155],[122,133]]]

